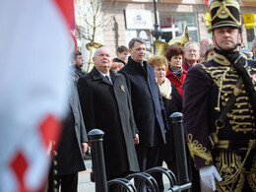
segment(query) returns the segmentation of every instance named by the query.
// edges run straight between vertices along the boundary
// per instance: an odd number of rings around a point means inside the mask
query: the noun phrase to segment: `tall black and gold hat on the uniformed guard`
[[[213,0],[210,4],[211,22],[208,32],[217,28],[241,28],[240,5],[238,0]]]

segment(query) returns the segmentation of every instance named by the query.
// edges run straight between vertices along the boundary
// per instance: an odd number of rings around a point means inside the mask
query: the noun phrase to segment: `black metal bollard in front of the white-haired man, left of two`
[[[92,160],[96,180],[96,192],[107,192],[105,163],[102,145],[103,135],[104,132],[99,129],[93,129],[88,134],[90,142],[92,142]]]

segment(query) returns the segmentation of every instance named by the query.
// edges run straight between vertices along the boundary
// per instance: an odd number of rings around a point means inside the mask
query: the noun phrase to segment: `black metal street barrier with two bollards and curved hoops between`
[[[94,129],[89,132],[88,136],[92,143],[92,160],[94,165],[94,176],[96,181],[96,192],[107,192],[108,188],[116,185],[116,192],[143,192],[145,186],[152,192],[159,192],[159,185],[152,173],[160,172],[165,175],[169,182],[167,192],[178,192],[191,188],[191,182],[188,177],[188,167],[185,152],[184,131],[182,126],[182,113],[175,112],[170,115],[175,153],[177,160],[177,177],[173,172],[165,167],[157,166],[146,170],[145,172],[138,172],[129,174],[125,178],[116,178],[106,181],[104,155],[103,155],[103,135],[104,133],[99,129]],[[136,179],[136,185],[134,180]],[[132,182],[133,180],[133,182]]]

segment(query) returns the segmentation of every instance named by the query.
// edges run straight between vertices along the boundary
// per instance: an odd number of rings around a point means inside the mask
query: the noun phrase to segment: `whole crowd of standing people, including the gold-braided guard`
[[[255,191],[256,38],[249,58],[239,47],[237,4],[213,1],[212,39],[170,45],[165,55],[146,59],[146,42],[134,37],[115,58],[105,46],[96,49],[95,67],[85,73],[82,54],[74,52],[70,112],[52,164],[57,182],[49,186],[76,191],[87,132],[95,128],[104,132],[107,180],[163,161],[177,175],[168,117],[183,112],[192,191]],[[154,176],[163,191],[161,175]]]

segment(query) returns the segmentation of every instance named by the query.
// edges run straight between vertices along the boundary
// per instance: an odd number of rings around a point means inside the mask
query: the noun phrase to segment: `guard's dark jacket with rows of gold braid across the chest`
[[[246,62],[247,73],[252,77],[256,64],[252,60]],[[256,109],[245,87],[232,64],[217,53],[187,72],[183,85],[183,126],[197,168],[213,164],[213,141],[209,139],[213,133],[214,139],[221,141],[255,140]],[[235,101],[220,126],[217,119],[232,95],[236,96]]]

